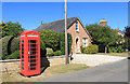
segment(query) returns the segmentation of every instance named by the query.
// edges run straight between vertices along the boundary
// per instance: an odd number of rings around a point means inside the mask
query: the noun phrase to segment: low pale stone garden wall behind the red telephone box
[[[21,69],[21,59],[10,59],[10,60],[0,60],[0,66],[2,71],[11,71]],[[41,67],[44,66],[54,66],[65,62],[65,56],[55,56],[55,57],[42,57]]]

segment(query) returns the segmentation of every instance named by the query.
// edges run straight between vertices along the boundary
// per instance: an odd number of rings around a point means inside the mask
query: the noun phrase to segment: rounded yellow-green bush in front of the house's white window
[[[96,54],[99,52],[99,46],[95,44],[88,45],[84,50],[84,54]]]

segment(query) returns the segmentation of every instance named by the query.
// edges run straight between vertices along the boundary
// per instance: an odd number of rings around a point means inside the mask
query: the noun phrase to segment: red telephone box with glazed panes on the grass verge
[[[35,30],[21,33],[21,73],[40,74],[40,33]]]

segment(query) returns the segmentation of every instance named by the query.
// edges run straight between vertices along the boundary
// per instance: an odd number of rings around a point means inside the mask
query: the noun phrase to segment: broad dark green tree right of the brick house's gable
[[[112,44],[120,43],[122,37],[116,30],[109,27],[99,26],[98,24],[86,26],[87,30],[92,37],[92,43],[105,46],[105,53]]]

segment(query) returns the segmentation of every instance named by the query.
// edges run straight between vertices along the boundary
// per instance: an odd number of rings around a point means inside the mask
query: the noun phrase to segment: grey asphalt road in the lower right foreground
[[[128,59],[50,78],[41,82],[128,82]]]

